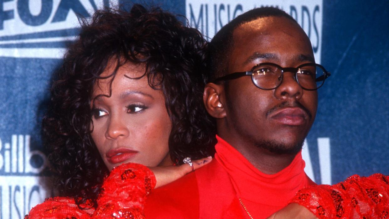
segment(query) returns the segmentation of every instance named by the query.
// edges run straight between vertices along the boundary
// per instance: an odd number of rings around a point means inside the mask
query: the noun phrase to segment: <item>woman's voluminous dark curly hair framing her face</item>
[[[116,60],[116,70],[128,61],[144,65],[149,85],[163,92],[172,121],[168,143],[173,163],[213,155],[216,128],[202,103],[206,58],[201,33],[159,8],[134,5],[130,12],[96,11],[90,21],[82,19],[79,38],[54,75],[42,125],[60,194],[74,197],[79,206],[90,200],[96,207],[109,171],[90,135],[90,103],[93,85],[110,60]]]

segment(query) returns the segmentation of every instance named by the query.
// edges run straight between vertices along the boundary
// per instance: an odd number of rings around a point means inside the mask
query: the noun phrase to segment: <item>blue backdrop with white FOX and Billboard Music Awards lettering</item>
[[[389,175],[389,2],[379,0],[161,0],[157,4],[212,37],[242,11],[274,5],[304,28],[315,58],[331,72],[303,149],[317,183],[352,174]],[[40,122],[51,74],[78,33],[77,14],[108,0],[0,0],[0,218],[23,218],[51,194]]]

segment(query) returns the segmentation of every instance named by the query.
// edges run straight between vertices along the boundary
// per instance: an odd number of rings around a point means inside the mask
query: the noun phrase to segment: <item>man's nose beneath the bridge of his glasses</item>
[[[300,84],[296,81],[293,72],[284,72],[282,82],[280,86],[275,89],[274,95],[280,100],[288,98],[298,100],[303,96],[303,88],[301,88]]]

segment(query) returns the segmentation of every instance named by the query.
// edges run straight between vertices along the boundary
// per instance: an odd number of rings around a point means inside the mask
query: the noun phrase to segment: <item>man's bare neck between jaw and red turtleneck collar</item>
[[[265,174],[275,174],[289,166],[296,154],[275,154],[253,143],[237,140],[232,136],[220,136],[237,149],[255,168]]]

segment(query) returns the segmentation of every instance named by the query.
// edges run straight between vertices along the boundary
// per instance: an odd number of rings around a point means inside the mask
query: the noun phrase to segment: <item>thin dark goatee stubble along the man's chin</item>
[[[304,139],[294,145],[280,144],[274,141],[256,142],[255,146],[265,149],[273,154],[297,154],[303,148]]]

